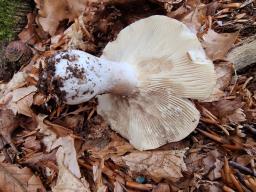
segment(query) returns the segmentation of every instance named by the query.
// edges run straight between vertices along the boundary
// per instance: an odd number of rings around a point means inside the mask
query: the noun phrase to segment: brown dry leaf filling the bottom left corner
[[[0,189],[8,192],[46,192],[41,180],[29,168],[0,163]]]

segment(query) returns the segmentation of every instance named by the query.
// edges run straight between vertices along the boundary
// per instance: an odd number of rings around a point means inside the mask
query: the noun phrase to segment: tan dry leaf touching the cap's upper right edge
[[[227,52],[232,48],[237,40],[239,32],[236,33],[216,33],[209,29],[203,35],[202,45],[205,48],[206,54],[210,59],[224,59]]]

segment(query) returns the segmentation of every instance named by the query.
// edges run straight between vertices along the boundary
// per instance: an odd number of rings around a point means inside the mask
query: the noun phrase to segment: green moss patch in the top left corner
[[[16,35],[15,27],[21,19],[16,11],[20,4],[20,0],[0,0],[0,40],[11,40]]]

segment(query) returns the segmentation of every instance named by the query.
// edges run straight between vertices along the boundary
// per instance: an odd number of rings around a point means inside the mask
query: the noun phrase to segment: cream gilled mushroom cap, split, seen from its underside
[[[130,97],[98,96],[98,113],[139,150],[180,141],[197,126],[190,99],[206,99],[216,83],[214,66],[196,35],[166,16],[141,19],[107,44],[102,58],[128,63],[139,79]]]

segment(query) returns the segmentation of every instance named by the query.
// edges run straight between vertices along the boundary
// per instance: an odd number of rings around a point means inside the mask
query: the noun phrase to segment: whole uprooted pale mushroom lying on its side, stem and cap
[[[53,91],[61,91],[70,105],[97,96],[97,112],[139,150],[188,136],[200,118],[189,99],[206,99],[216,83],[213,63],[196,35],[159,15],[124,28],[100,58],[68,50],[48,62],[55,66]]]

